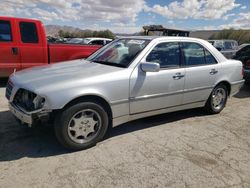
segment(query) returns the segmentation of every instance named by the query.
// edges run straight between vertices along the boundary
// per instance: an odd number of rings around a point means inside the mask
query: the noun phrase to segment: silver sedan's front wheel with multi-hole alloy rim
[[[108,114],[101,105],[81,102],[56,116],[55,134],[64,147],[82,150],[96,145],[104,137],[108,122]]]

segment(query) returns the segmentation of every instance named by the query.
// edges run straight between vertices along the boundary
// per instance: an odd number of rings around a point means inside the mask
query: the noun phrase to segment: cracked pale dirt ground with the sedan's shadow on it
[[[18,125],[0,88],[0,187],[250,187],[250,87],[219,115],[200,109],[112,129],[69,152],[53,128]]]

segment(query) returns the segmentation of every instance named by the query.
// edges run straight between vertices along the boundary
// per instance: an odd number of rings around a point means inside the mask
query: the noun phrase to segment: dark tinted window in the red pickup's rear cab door
[[[19,26],[23,43],[38,43],[36,24],[31,22],[20,22]]]

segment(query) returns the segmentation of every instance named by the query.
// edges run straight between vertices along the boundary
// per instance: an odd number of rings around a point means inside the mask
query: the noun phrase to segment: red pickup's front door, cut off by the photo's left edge
[[[7,77],[21,68],[15,20],[0,18],[0,77]]]

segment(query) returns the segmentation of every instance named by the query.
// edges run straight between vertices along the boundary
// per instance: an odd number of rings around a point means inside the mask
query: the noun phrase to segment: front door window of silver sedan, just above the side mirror
[[[161,68],[174,68],[179,67],[180,57],[179,43],[168,42],[155,46],[147,56],[146,61],[159,63]]]

